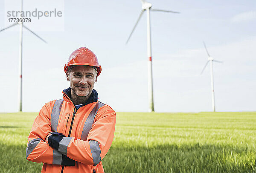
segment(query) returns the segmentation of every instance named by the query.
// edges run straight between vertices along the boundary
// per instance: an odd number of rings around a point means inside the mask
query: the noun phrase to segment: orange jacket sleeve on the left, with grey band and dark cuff
[[[50,102],[45,104],[35,118],[29,133],[26,159],[33,162],[74,166],[74,160],[62,155],[58,150],[52,149],[49,144],[44,142],[47,135],[52,132],[49,115],[51,104]]]

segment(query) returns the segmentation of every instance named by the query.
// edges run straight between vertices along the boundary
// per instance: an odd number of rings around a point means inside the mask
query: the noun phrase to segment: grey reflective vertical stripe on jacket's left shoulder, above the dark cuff
[[[52,108],[52,114],[51,114],[52,132],[57,132],[58,118],[60,116],[62,103],[63,103],[63,99],[56,100]]]

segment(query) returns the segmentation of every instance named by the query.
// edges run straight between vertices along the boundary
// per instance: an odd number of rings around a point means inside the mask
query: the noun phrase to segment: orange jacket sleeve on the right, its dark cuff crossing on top
[[[111,108],[106,111],[99,110],[86,141],[75,139],[75,137],[65,137],[61,134],[53,137],[55,140],[52,138],[51,143],[55,150],[70,159],[96,166],[111,147],[115,124],[115,111]]]

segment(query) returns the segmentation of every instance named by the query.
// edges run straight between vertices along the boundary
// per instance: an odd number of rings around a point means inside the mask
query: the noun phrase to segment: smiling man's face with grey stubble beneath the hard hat
[[[67,80],[70,81],[71,97],[89,97],[97,81],[96,70],[90,66],[74,66]]]

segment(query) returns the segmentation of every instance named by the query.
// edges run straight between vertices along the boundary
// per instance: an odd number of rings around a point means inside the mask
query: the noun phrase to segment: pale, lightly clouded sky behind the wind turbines
[[[0,29],[9,4],[0,1]],[[127,45],[141,10],[140,0],[23,0],[23,10],[63,11],[63,17],[25,23],[47,44],[23,32],[23,111],[38,112],[69,87],[63,66],[70,53],[86,46],[102,65],[95,89],[116,111],[147,112],[145,13]],[[214,63],[216,111],[256,111],[256,1],[150,0],[154,106],[156,112],[211,111],[209,66]],[[19,27],[0,32],[0,112],[17,112]]]

